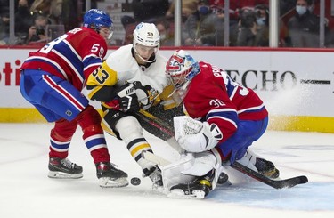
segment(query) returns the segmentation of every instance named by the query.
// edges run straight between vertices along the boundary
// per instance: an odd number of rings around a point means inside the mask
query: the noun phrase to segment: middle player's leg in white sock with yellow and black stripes
[[[143,128],[138,120],[121,111],[105,109],[102,122],[107,133],[114,133],[118,139],[126,143],[126,148],[131,156],[142,167],[143,174],[149,176],[153,184],[161,186],[162,178],[159,167],[143,158],[143,151],[151,153],[153,151],[149,142],[143,137]]]

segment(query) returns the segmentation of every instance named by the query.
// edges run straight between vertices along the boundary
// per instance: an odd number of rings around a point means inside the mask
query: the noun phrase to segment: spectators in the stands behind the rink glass
[[[83,0],[14,0],[15,44],[45,44],[71,28],[80,26],[85,12]],[[116,0],[115,0],[116,1]],[[96,7],[96,0],[91,7]],[[108,1],[112,2],[112,1]],[[157,25],[161,46],[175,42],[175,1],[121,1],[133,16],[121,17],[125,31],[120,44],[131,44],[135,26],[141,22]],[[126,3],[124,3],[126,2]],[[224,0],[182,1],[182,46],[224,46]],[[329,6],[330,1],[326,0]],[[280,0],[281,47],[320,47],[319,0]],[[333,47],[334,24],[325,14],[325,46]],[[269,0],[230,1],[228,46],[269,46]],[[9,44],[9,1],[0,0],[0,45]]]

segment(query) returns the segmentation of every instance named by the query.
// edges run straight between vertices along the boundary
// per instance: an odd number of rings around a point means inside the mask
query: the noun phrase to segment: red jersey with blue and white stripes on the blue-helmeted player
[[[21,69],[40,69],[69,81],[81,91],[107,53],[107,43],[94,29],[74,28],[30,52]]]

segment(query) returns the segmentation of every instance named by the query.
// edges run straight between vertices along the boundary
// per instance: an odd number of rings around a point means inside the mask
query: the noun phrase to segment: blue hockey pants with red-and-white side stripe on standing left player
[[[49,122],[72,120],[88,105],[86,97],[67,80],[41,70],[24,70],[20,91]]]

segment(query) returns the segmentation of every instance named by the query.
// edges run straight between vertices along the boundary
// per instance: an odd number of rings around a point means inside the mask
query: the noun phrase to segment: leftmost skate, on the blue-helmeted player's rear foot
[[[50,157],[48,177],[55,179],[79,179],[83,177],[82,166],[70,162],[68,158]]]

